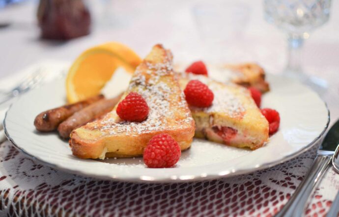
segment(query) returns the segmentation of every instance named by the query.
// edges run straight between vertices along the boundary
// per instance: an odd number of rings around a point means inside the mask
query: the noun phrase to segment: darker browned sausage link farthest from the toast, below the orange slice
[[[74,114],[74,112],[84,109],[90,104],[104,98],[104,95],[98,95],[78,103],[41,112],[35,117],[34,126],[36,130],[41,132],[54,131],[62,121],[66,120],[69,116]]]

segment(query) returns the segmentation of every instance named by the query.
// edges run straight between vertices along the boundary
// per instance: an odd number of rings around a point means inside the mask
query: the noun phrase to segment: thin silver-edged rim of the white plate
[[[277,76],[277,75],[274,75]],[[301,85],[304,85],[300,82],[298,82]],[[311,91],[313,91],[311,88],[309,88]],[[315,92],[315,91],[313,91]],[[316,93],[316,92],[315,92]],[[317,94],[317,93],[316,93]],[[23,94],[25,95],[25,94]],[[20,98],[23,96],[19,96]],[[318,95],[318,94],[317,94]],[[319,96],[319,95],[318,95]],[[263,170],[263,169],[268,169],[271,168],[273,166],[276,166],[280,163],[284,163],[286,161],[289,161],[303,153],[305,153],[306,151],[310,150],[315,144],[316,142],[324,135],[324,133],[326,132],[326,130],[329,127],[330,124],[330,110],[328,109],[327,103],[321,99],[319,97],[319,99],[324,103],[325,108],[327,109],[327,123],[324,127],[324,129],[322,130],[322,132],[316,136],[309,144],[305,145],[303,148],[299,149],[298,151],[286,155],[285,157],[283,157],[282,159],[279,159],[277,161],[273,161],[273,162],[269,162],[269,163],[262,163],[260,165],[258,165],[255,168],[250,168],[250,169],[235,169],[232,171],[227,171],[227,173],[225,174],[206,174],[206,176],[201,176],[201,175],[190,175],[189,177],[185,177],[185,178],[180,178],[180,177],[168,177],[168,178],[159,178],[159,177],[149,177],[145,178],[143,176],[138,176],[138,177],[133,177],[133,178],[126,178],[126,177],[118,177],[116,175],[112,176],[112,175],[96,175],[93,173],[88,173],[82,170],[75,170],[75,169],[69,169],[67,167],[63,167],[63,166],[59,166],[57,164],[54,163],[50,163],[47,161],[44,161],[43,159],[40,159],[37,156],[31,155],[29,154],[24,148],[21,148],[19,145],[16,144],[16,142],[14,141],[14,139],[9,135],[8,131],[7,131],[7,127],[6,127],[6,119],[7,119],[7,113],[8,111],[11,109],[12,105],[9,106],[9,108],[7,109],[6,113],[5,113],[5,118],[3,120],[3,128],[4,128],[4,133],[5,136],[7,138],[7,140],[17,149],[19,150],[21,153],[23,153],[24,155],[26,155],[27,157],[38,161],[39,163],[42,163],[44,165],[50,166],[52,168],[55,168],[57,170],[61,170],[67,173],[71,173],[71,174],[77,174],[77,175],[81,175],[81,176],[85,176],[85,177],[92,177],[92,178],[96,178],[96,179],[104,179],[104,180],[112,180],[112,181],[121,181],[121,182],[134,182],[134,183],[182,183],[182,182],[197,182],[197,181],[205,181],[205,180],[213,180],[213,179],[220,179],[220,178],[225,178],[225,177],[232,177],[235,175],[242,175],[242,174],[249,174],[255,171],[259,171],[259,170]]]

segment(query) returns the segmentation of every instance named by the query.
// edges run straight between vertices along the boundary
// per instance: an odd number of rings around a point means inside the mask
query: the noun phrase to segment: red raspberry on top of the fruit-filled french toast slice
[[[208,86],[198,80],[188,82],[184,90],[188,104],[196,107],[209,107],[212,105],[214,94]]]

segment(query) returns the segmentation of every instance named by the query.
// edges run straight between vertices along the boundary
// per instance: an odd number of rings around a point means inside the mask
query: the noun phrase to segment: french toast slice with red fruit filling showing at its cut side
[[[198,80],[205,83],[214,94],[210,107],[190,106],[196,122],[196,137],[252,150],[268,141],[268,122],[246,88],[192,73],[179,75],[182,89],[190,80]]]

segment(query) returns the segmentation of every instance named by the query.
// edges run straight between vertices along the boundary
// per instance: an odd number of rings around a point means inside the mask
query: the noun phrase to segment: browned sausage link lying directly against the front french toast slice
[[[110,112],[121,98],[119,96],[113,99],[103,99],[89,105],[85,109],[75,112],[72,116],[62,122],[57,131],[62,138],[68,138],[73,130],[85,125],[86,123],[100,118],[102,115]]]

